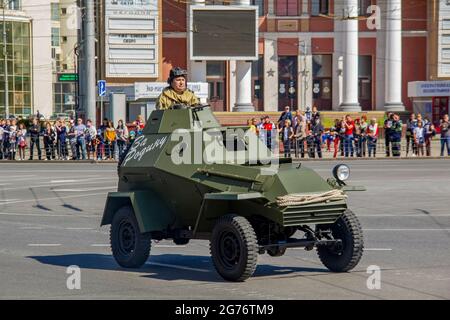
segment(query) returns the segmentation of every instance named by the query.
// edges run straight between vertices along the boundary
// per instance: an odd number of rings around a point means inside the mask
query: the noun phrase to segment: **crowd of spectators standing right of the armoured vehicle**
[[[380,131],[383,130],[386,157],[399,157],[403,135],[403,123],[398,114],[389,113],[379,128],[376,118],[368,120],[365,115],[353,119],[345,115],[335,119],[333,125],[324,128],[320,112],[316,107],[312,111],[291,112],[285,110],[275,123],[269,116],[253,118],[248,125],[271,150],[274,149],[278,135],[282,153],[285,157],[322,158],[323,152],[332,152],[332,156],[376,157]],[[450,131],[448,115],[440,122],[441,156],[444,149],[450,156]],[[428,118],[420,114],[411,114],[406,123],[406,156],[431,156],[431,141],[436,136],[436,128]],[[379,152],[378,152],[379,154]]]

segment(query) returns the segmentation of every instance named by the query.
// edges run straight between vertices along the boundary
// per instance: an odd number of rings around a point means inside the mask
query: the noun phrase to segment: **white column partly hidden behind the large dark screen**
[[[249,6],[250,0],[237,0],[238,6]],[[252,104],[252,63],[247,61],[236,62],[236,104],[233,111],[255,111]]]

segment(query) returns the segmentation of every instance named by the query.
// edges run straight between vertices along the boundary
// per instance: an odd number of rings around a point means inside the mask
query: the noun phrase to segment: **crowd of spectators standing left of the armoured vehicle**
[[[28,127],[23,119],[0,119],[0,160],[118,160],[145,122],[139,116],[131,125],[103,119],[96,128],[91,120],[61,119],[54,122],[34,117]]]

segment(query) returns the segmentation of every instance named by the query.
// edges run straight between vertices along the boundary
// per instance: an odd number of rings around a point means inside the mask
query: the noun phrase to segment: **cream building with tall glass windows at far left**
[[[6,89],[10,115],[27,117],[39,111],[50,117],[74,110],[75,83],[62,84],[59,80],[65,80],[61,74],[76,73],[76,1],[9,0],[5,4],[1,28],[5,21],[8,67],[5,70],[2,59],[0,116],[5,115]],[[3,37],[0,44],[3,49]]]

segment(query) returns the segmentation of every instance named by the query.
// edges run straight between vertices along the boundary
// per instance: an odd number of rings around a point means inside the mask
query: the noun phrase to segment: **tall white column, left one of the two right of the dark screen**
[[[344,1],[344,96],[342,111],[361,111],[358,102],[358,1]]]

